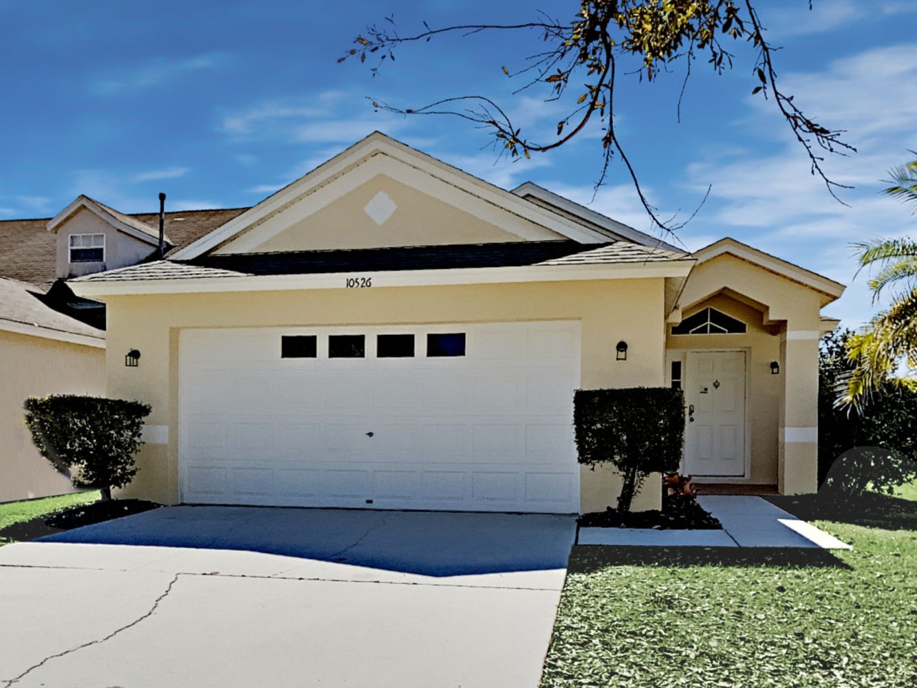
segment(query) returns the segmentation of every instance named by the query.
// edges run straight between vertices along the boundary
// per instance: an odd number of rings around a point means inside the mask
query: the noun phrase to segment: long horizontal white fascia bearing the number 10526
[[[193,294],[260,292],[298,289],[345,289],[348,279],[369,278],[372,286],[404,287],[581,280],[687,277],[694,261],[617,263],[614,265],[545,265],[509,268],[458,268],[385,272],[326,272],[322,274],[199,277],[171,280],[71,282],[78,296],[94,298],[126,294]]]

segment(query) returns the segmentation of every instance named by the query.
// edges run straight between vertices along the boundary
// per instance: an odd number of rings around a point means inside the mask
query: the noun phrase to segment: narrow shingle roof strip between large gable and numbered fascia
[[[80,277],[74,282],[124,282],[254,275],[389,272],[458,268],[588,265],[684,260],[669,250],[628,241],[599,246],[577,241],[520,241],[403,248],[282,251],[209,255],[193,261],[157,261]]]

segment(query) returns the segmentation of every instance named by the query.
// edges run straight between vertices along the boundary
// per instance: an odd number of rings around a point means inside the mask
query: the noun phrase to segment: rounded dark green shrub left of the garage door
[[[134,454],[143,442],[150,407],[136,401],[75,394],[30,396],[26,427],[39,453],[77,487],[124,487],[137,474]]]

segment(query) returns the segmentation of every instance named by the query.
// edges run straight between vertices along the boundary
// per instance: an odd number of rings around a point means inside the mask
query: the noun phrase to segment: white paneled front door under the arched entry
[[[690,351],[685,361],[685,472],[744,476],[745,351]]]

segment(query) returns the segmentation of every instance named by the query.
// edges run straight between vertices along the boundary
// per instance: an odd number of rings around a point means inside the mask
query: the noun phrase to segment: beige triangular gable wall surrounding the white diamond
[[[337,181],[337,184],[343,183],[346,182]],[[380,192],[387,194],[397,207],[392,216],[377,225],[363,208]],[[252,237],[263,235],[265,239],[247,245],[244,250],[369,249],[522,240],[511,230],[524,232],[530,239],[564,239],[506,211],[500,212],[503,228],[497,227],[463,209],[460,195],[453,192],[449,197],[454,203],[425,194],[385,174],[377,174],[315,211],[311,209],[315,205],[311,196],[290,205],[251,229]],[[480,199],[465,200],[482,203]],[[250,238],[243,235],[242,239],[248,241]],[[237,243],[229,242],[216,252],[232,253],[237,250]]]

